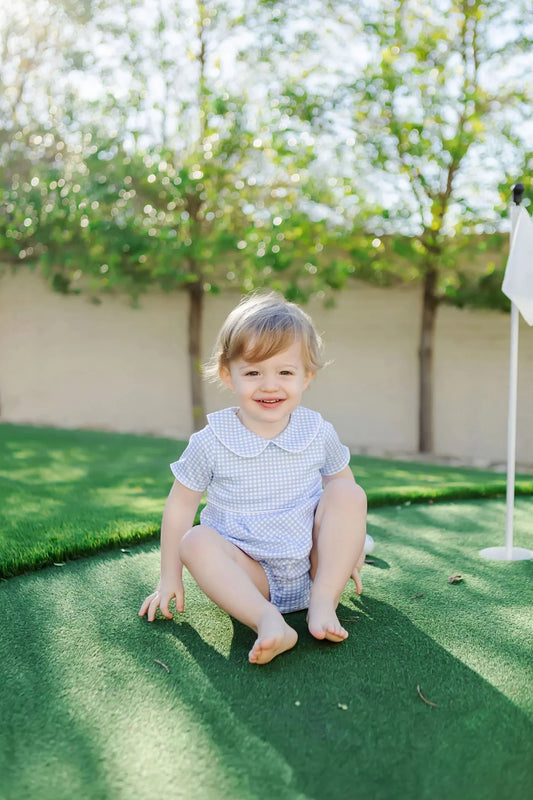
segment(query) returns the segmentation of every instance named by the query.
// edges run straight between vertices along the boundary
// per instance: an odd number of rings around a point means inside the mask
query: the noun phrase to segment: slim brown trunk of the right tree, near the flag
[[[422,326],[420,330],[418,449],[433,450],[433,350],[437,319],[437,270],[429,267],[424,278]]]

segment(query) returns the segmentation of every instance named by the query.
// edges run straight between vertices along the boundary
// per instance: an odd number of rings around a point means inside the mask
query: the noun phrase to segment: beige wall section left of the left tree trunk
[[[148,297],[137,310],[56,294],[31,273],[2,278],[2,419],[184,435],[184,312],[181,297]]]

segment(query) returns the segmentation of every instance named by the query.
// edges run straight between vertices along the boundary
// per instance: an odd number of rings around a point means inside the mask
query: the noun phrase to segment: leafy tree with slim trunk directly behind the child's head
[[[101,4],[85,44],[69,51],[70,64],[87,65],[101,84],[85,100],[86,78],[71,69],[78,99],[74,91],[68,96],[61,141],[52,142],[51,158],[33,164],[23,219],[9,231],[18,258],[38,261],[59,291],[118,288],[138,298],[160,286],[187,293],[197,429],[205,295],[272,286],[305,300],[338,288],[347,272],[317,266],[328,235],[327,195],[306,179],[311,144],[289,123],[273,126],[244,56],[236,90],[226,88],[224,48],[243,33],[235,9],[200,0],[152,6],[139,20],[135,12],[146,4],[124,6],[118,18],[114,4]],[[108,59],[117,56],[127,70],[113,93]],[[235,79],[235,65],[230,72]]]

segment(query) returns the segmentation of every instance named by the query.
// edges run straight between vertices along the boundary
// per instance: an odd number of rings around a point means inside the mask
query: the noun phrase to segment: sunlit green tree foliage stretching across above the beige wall
[[[48,44],[0,101],[4,262],[40,264],[61,291],[309,296],[352,276],[419,279],[431,258],[445,301],[496,302],[494,275],[467,280],[454,262],[459,242],[499,224],[498,182],[530,168],[517,133],[528,85],[514,77],[528,31],[507,24],[522,0],[243,0],[194,13],[163,0],[139,26],[141,6],[120,27],[107,0],[86,6],[53,58],[48,23],[61,31],[65,6],[46,6]],[[78,68],[99,87],[90,100]],[[24,120],[6,105],[19,89]]]

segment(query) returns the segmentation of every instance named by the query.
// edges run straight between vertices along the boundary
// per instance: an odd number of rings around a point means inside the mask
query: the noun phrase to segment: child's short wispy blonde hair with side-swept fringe
[[[221,369],[229,369],[231,362],[238,358],[251,363],[266,361],[286,350],[295,340],[302,343],[306,372],[321,369],[324,366],[322,339],[311,317],[276,292],[247,295],[222,325],[204,375],[214,380]]]

